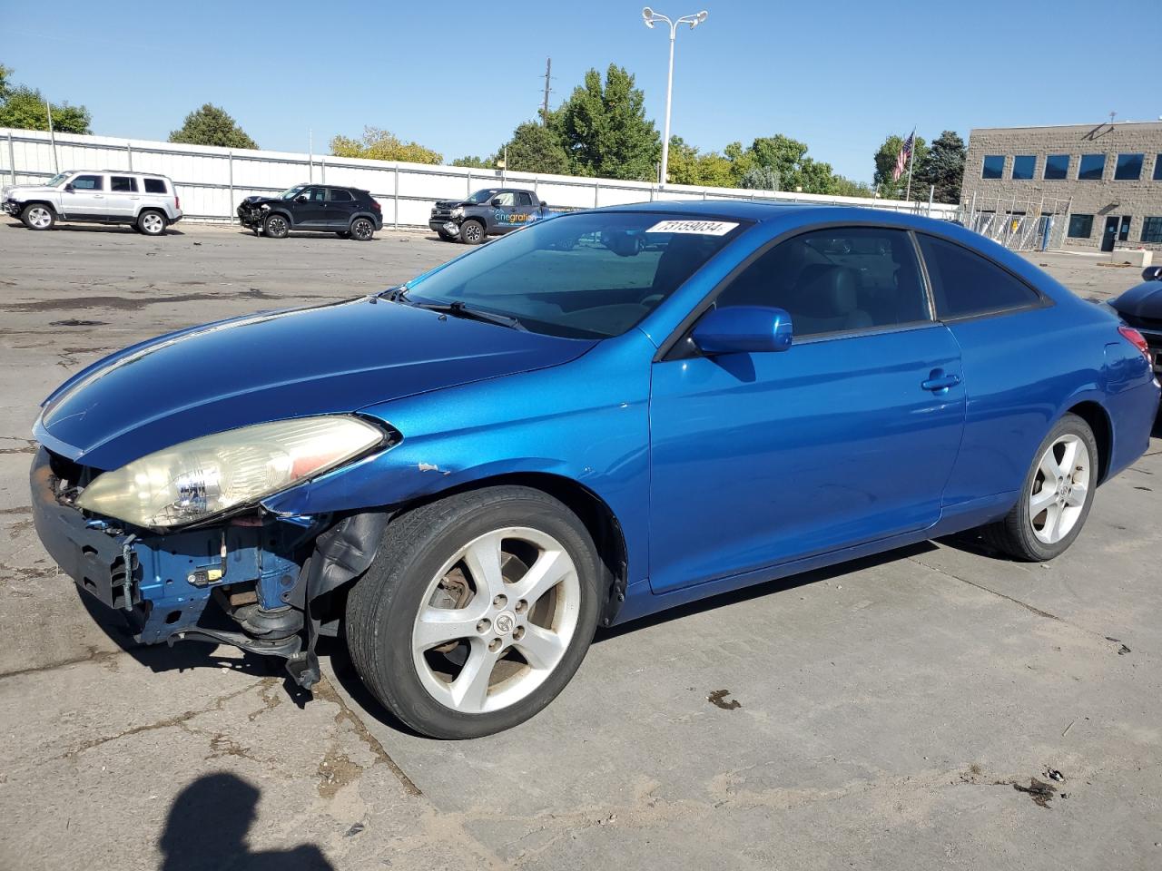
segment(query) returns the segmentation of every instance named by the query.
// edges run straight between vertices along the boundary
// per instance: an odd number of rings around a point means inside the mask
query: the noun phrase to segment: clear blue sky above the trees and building
[[[672,132],[703,151],[776,132],[870,181],[873,154],[913,125],[1153,121],[1162,115],[1160,0],[657,0],[677,34]],[[700,5],[702,3],[702,5]],[[316,153],[390,130],[444,154],[490,154],[535,118],[546,57],[558,106],[586,70],[626,67],[662,129],[668,29],[639,2],[72,2],[0,0],[0,64],[93,132],[165,139],[205,102],[261,147]],[[1153,45],[1150,43],[1153,42]]]

